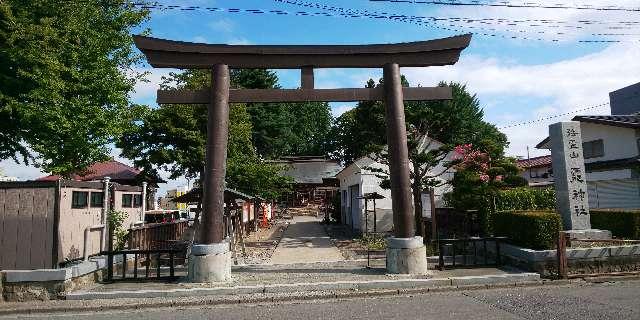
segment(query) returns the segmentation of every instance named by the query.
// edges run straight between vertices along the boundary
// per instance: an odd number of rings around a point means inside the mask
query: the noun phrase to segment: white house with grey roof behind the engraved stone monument
[[[640,115],[576,116],[573,121],[582,131],[589,206],[640,208]],[[536,148],[553,146],[546,138]]]

